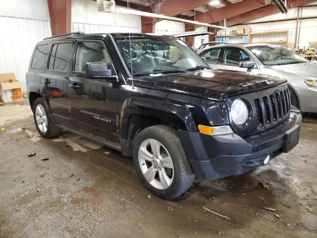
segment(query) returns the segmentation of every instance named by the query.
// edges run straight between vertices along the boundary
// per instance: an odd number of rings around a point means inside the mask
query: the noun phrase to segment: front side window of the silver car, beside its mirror
[[[254,61],[251,57],[245,53],[244,51],[238,48],[226,48],[223,54],[223,64],[232,65],[232,66],[239,66],[241,61]]]

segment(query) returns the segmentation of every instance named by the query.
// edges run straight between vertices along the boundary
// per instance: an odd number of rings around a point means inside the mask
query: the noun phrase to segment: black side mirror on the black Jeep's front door
[[[111,69],[108,69],[107,64],[103,62],[86,63],[86,75],[88,78],[116,78],[116,76],[112,76]]]

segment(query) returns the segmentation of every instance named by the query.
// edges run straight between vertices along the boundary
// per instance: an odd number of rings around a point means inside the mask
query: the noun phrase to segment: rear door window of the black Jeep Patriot
[[[69,65],[69,55],[72,43],[53,44],[49,69],[67,71]]]

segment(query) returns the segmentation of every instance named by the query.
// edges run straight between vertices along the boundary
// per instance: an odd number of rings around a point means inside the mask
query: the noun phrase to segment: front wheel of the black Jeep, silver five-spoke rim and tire
[[[142,130],[134,140],[133,162],[142,184],[162,199],[183,194],[195,179],[182,142],[169,126],[154,125]]]

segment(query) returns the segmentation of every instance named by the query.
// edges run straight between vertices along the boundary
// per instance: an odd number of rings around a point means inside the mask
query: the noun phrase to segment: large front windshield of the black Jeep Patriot
[[[162,36],[116,36],[114,40],[133,75],[174,73],[209,66],[183,41]],[[131,51],[130,51],[131,46]]]

